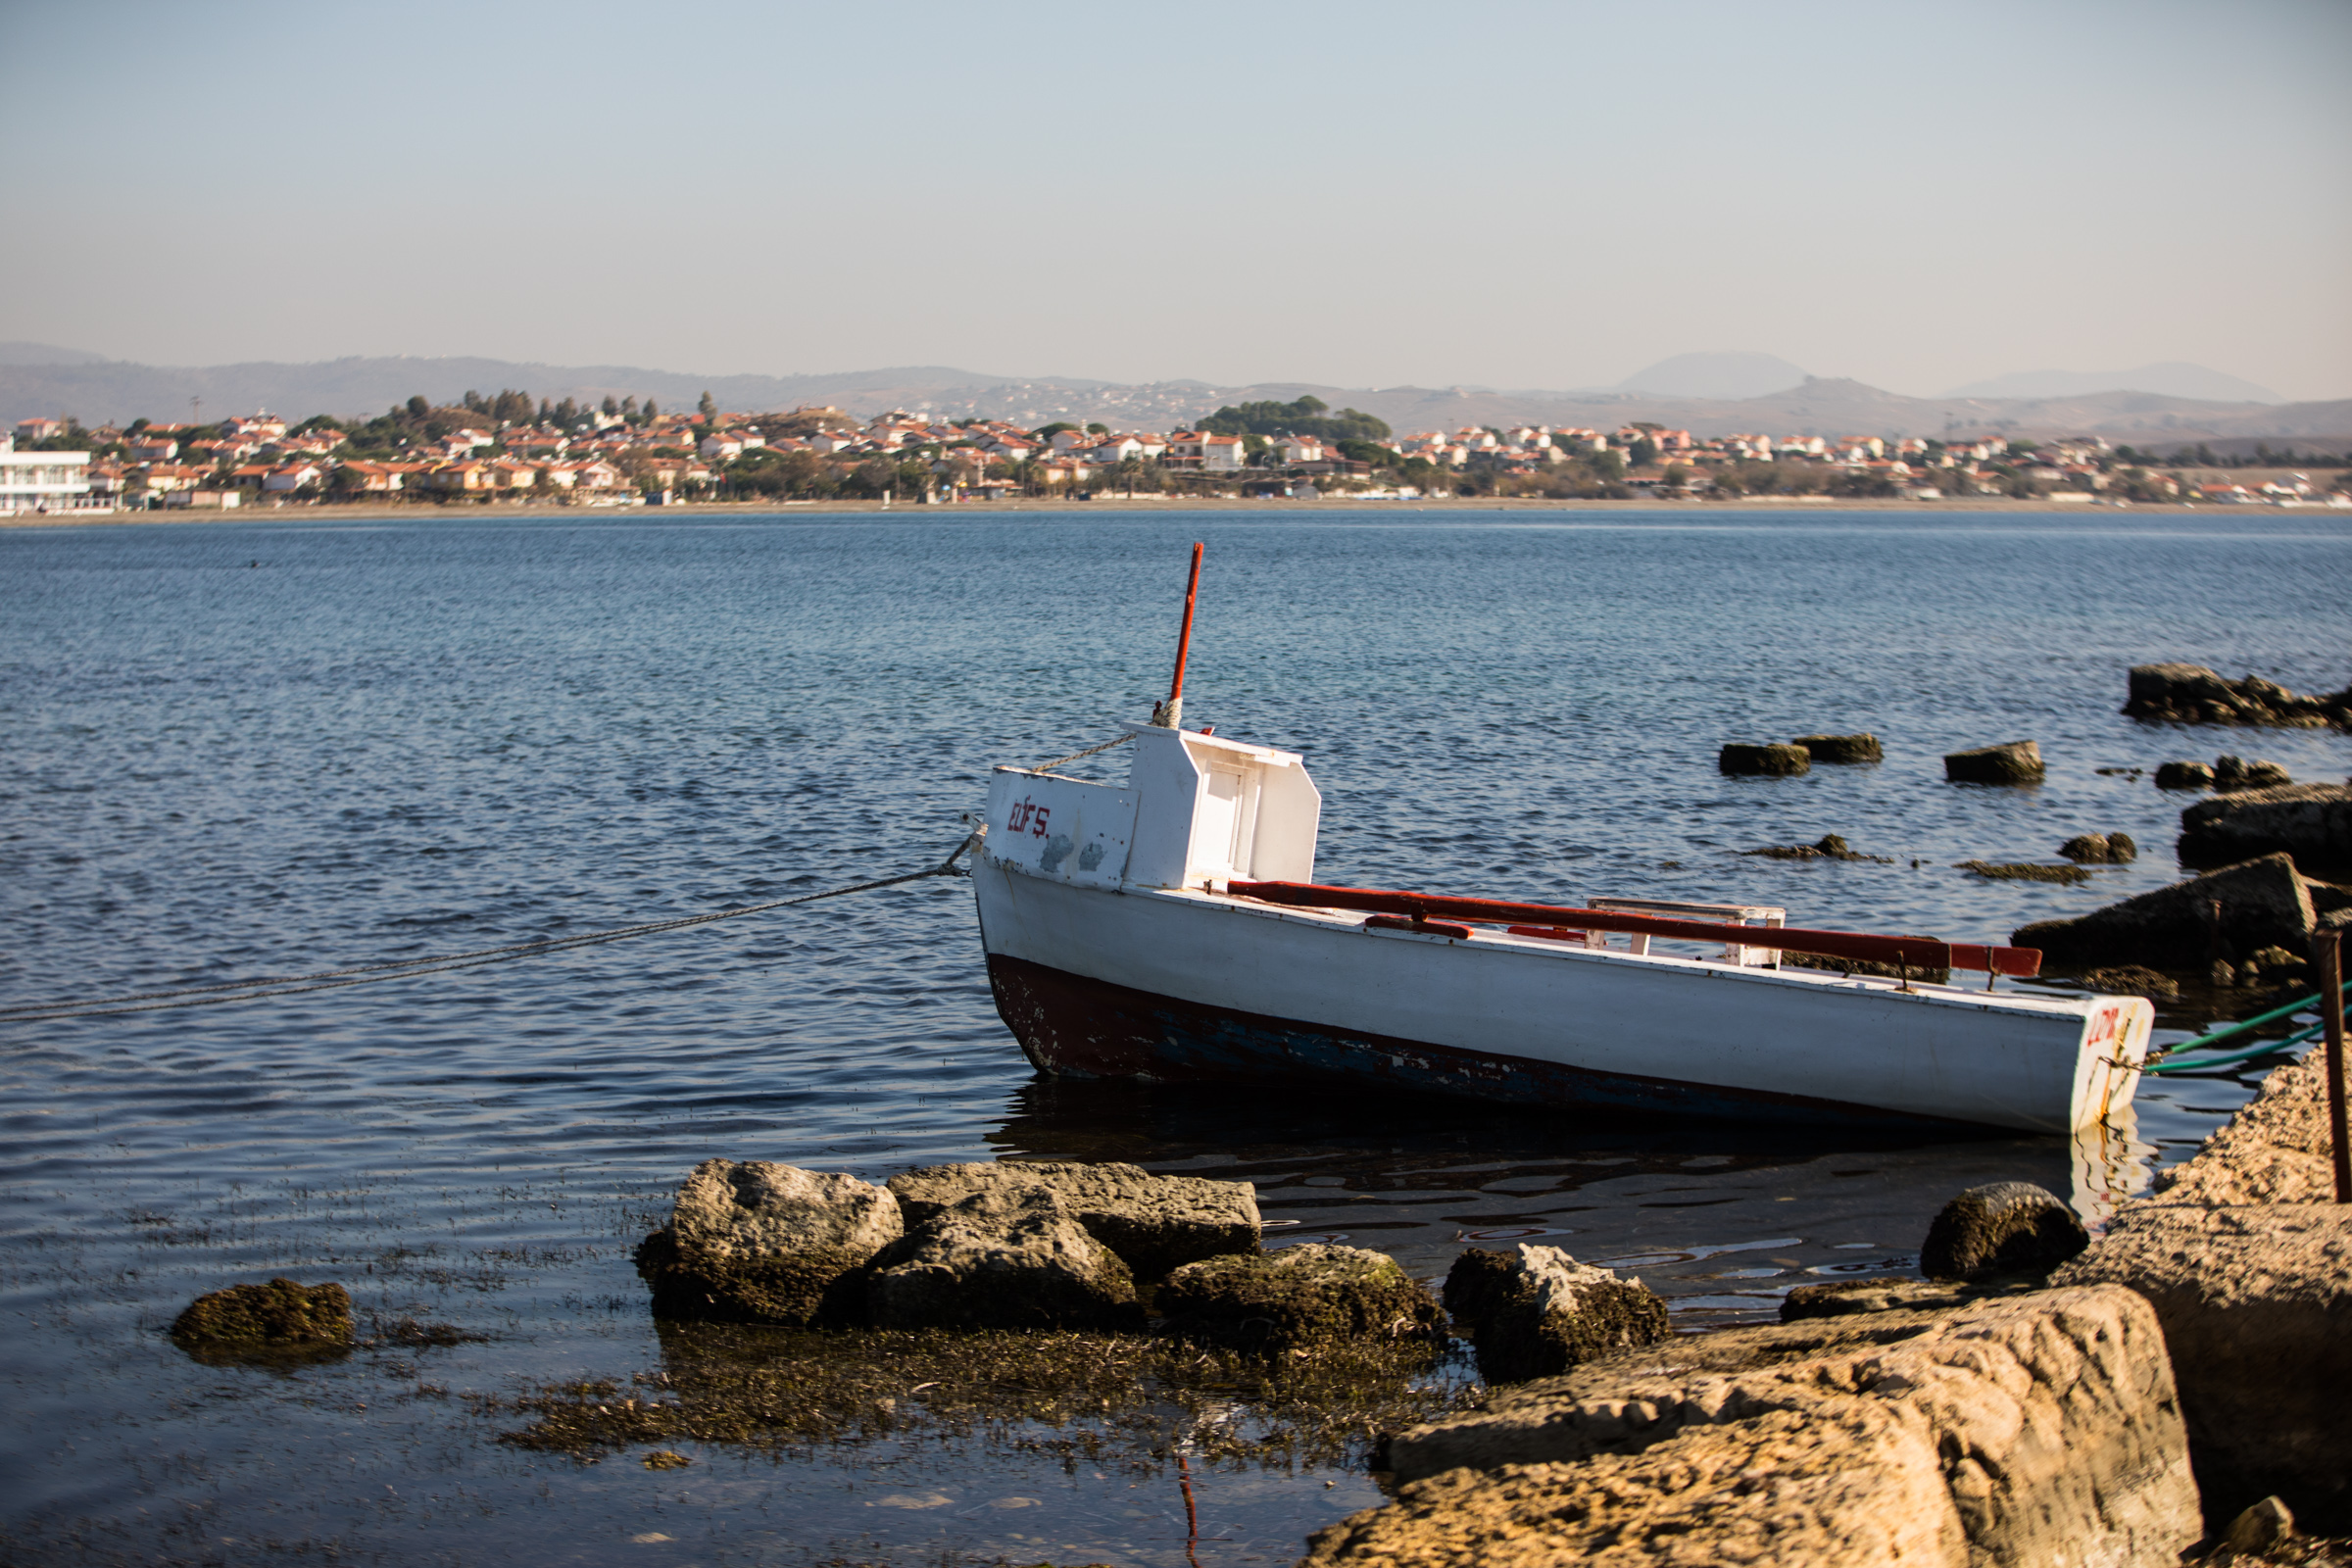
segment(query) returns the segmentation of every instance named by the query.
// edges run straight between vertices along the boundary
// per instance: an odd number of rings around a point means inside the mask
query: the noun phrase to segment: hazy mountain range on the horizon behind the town
[[[2136,388],[2129,381],[2164,383]],[[2279,402],[2258,386],[2197,364],[2150,364],[2140,371],[2030,371],[1959,388],[1945,397],[1905,397],[1860,381],[1813,378],[1788,360],[1757,353],[1677,355],[1613,388],[1338,388],[1317,383],[1209,386],[1155,381],[1124,386],[1084,376],[988,376],[943,364],[903,364],[828,376],[689,376],[621,364],[515,364],[508,360],[350,357],[315,364],[160,367],[103,360],[49,343],[0,343],[0,418],[73,414],[85,423],[188,418],[249,411],[367,416],[409,395],[454,402],[466,390],[520,388],[534,397],[600,402],[654,397],[694,407],[708,390],[727,409],[835,404],[851,414],[915,409],[946,418],[988,416],[1018,423],[1054,418],[1120,428],[1176,428],[1218,404],[1294,400],[1303,393],[1331,407],[1378,414],[1399,430],[1465,423],[1597,425],[1637,418],[1698,435],[2105,435],[2171,449],[2213,442],[2251,449],[2258,440],[2326,449],[2352,444],[2352,400]],[[1997,390],[1999,388],[1999,390]],[[200,400],[200,404],[198,404]]]

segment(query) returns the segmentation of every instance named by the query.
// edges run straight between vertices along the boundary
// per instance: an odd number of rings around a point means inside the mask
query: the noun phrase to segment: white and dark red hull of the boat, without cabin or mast
[[[1367,929],[1200,889],[974,872],[997,1013],[1047,1072],[2065,1133],[2150,1009]]]

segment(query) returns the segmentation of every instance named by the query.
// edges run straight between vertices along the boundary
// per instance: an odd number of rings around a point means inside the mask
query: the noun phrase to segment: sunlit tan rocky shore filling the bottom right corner
[[[2326,1201],[2326,1138],[2314,1051],[2098,1241],[2039,1190],[1962,1194],[1922,1258],[1940,1281],[1797,1293],[1776,1328],[1395,1434],[1397,1500],[1305,1563],[2331,1559],[2296,1526],[2352,1533],[2352,1206]]]

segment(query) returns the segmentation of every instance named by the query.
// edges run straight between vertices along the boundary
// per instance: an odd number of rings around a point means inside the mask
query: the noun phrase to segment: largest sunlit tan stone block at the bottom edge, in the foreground
[[[1388,1443],[1308,1563],[2171,1563],[2201,1535],[2154,1309],[2039,1291],[1677,1340]]]

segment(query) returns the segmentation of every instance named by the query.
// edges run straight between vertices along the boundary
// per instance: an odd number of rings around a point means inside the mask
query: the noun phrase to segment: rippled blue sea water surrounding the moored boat
[[[1164,686],[1209,543],[1188,722],[1308,755],[1319,875],[1512,898],[1783,903],[1999,940],[2178,875],[2145,778],[2340,733],[2145,729],[2124,668],[2336,689],[2352,529],[2256,515],[1103,512],[1087,520],[174,524],[0,534],[0,1001],[299,973],[779,898],[938,858],[997,762]],[[1724,741],[1870,729],[1875,769],[1724,780]],[[2039,790],[1940,755],[2037,738]],[[1117,757],[1117,755],[1112,755]],[[1110,762],[1105,776],[1122,764]],[[2084,830],[2091,886],[1983,884]],[[1891,863],[1740,858],[1844,835]],[[2213,1016],[2164,1016],[2171,1039]],[[466,1394],[661,1366],[628,1251],[710,1154],[866,1178],[1136,1159],[1258,1182],[1282,1241],[1437,1276],[1545,1239],[1686,1328],[1907,1267],[1950,1192],[2096,1213],[2251,1079],[2136,1128],[1889,1143],[1310,1091],[1037,1081],[969,889],[929,882],[553,959],[0,1023],[0,1547],[12,1561],[1181,1563],[1174,1472],[1018,1432],[581,1467]],[[296,1274],[492,1335],[198,1366],[195,1293]],[[1451,1373],[1458,1375],[1458,1368]],[[1195,1472],[1202,1563],[1287,1561],[1362,1467]]]

